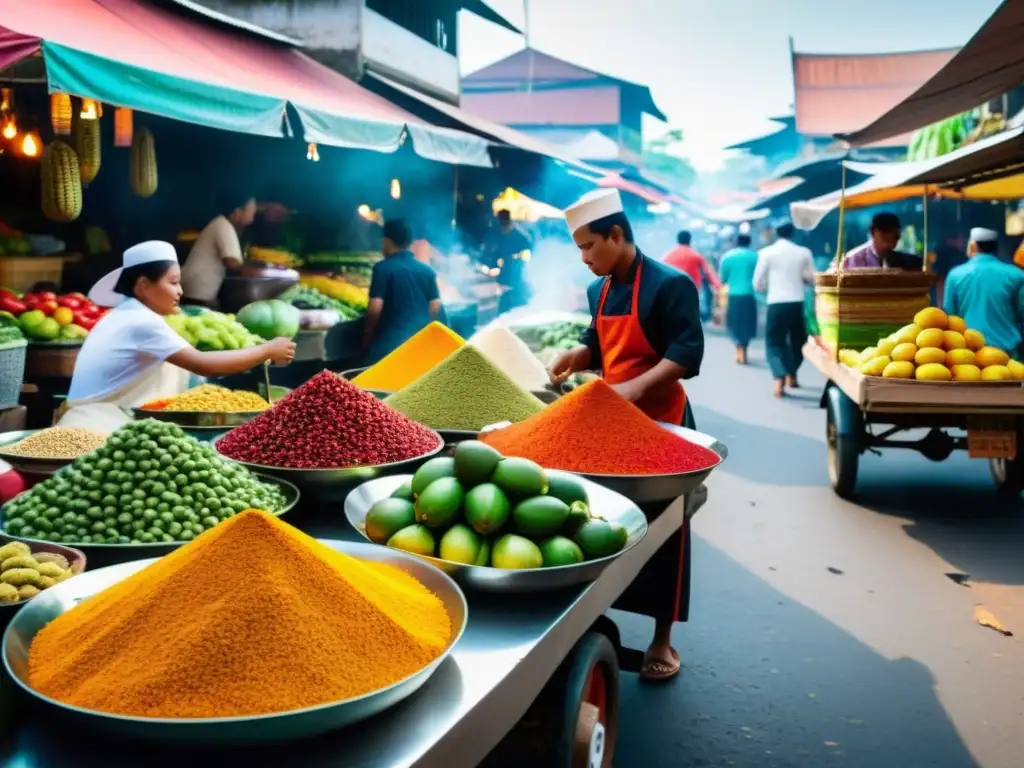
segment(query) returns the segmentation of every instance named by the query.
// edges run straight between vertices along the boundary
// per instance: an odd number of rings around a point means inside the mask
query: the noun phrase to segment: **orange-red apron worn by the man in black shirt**
[[[595,327],[601,345],[601,361],[604,380],[609,384],[622,384],[650,371],[662,361],[640,326],[640,280],[643,275],[643,261],[637,264],[633,280],[633,298],[630,313],[605,315],[604,300],[608,297],[611,278],[604,281],[601,298],[597,302]],[[686,409],[686,391],[679,381],[670,381],[648,392],[637,407],[654,421],[681,424]]]

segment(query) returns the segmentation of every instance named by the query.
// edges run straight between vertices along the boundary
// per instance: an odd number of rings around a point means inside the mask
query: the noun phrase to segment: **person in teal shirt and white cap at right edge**
[[[1024,325],[1024,269],[996,256],[998,240],[991,229],[971,230],[968,262],[946,278],[944,308],[980,331],[986,344],[1016,357]]]

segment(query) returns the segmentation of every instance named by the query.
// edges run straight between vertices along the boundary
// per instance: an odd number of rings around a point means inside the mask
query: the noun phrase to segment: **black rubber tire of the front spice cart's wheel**
[[[563,665],[565,672],[562,691],[562,722],[555,745],[552,768],[573,768],[572,748],[575,743],[577,721],[580,707],[586,695],[590,671],[597,665],[605,667],[607,684],[607,712],[604,718],[604,761],[602,768],[611,768],[618,734],[618,655],[607,637],[599,632],[588,632],[577,643],[571,657]]]

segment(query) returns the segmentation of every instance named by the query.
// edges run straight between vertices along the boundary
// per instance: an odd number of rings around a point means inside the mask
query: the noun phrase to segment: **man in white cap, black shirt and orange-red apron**
[[[552,365],[554,382],[577,371],[600,370],[623,397],[650,418],[693,426],[680,382],[697,375],[703,357],[703,330],[697,289],[687,275],[648,259],[633,241],[633,229],[614,189],[586,195],[565,211],[583,262],[598,276],[587,291],[593,317],[580,346]],[[609,440],[615,435],[609,434]],[[688,590],[689,524],[655,553],[618,604],[655,620],[654,639],[640,675],[667,680],[679,673],[672,626]]]

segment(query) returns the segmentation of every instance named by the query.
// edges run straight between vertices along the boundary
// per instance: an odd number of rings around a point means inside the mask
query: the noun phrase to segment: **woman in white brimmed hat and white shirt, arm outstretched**
[[[113,404],[128,409],[184,390],[188,373],[228,376],[265,360],[278,365],[295,356],[291,339],[273,339],[249,349],[201,352],[178,336],[167,315],[178,312],[181,269],[170,243],[150,241],[129,248],[124,265],[89,292],[113,306],[89,333],[79,352],[66,409]]]

